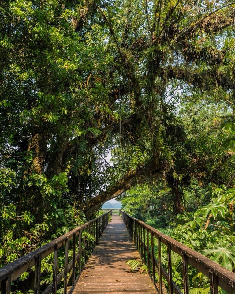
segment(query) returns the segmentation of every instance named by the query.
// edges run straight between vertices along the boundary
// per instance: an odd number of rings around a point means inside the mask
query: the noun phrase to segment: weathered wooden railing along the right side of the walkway
[[[144,259],[144,263],[148,266],[148,273],[155,286],[155,273],[157,273],[159,276],[158,287],[156,287],[159,294],[163,293],[164,285],[162,282],[162,276],[165,277],[168,283],[169,294],[182,294],[180,288],[174,283],[172,279],[171,251],[176,252],[182,257],[182,272],[185,294],[189,294],[190,289],[188,278],[188,264],[192,265],[199,272],[203,273],[209,278],[211,294],[218,294],[218,286],[225,290],[228,294],[235,293],[235,273],[229,271],[228,269],[225,269],[218,263],[185,246],[184,244],[170,238],[165,234],[162,234],[155,228],[152,228],[151,226],[145,224],[143,221],[137,220],[135,217],[132,217],[122,210],[120,212],[122,214],[122,220],[125,223],[127,230],[136,245],[136,248],[140,252],[141,258]],[[147,234],[147,244],[145,240],[145,231]],[[149,233],[151,234],[151,252],[149,246]],[[157,239],[158,242],[158,258],[155,258],[154,237]],[[168,271],[166,271],[162,267],[161,243],[167,246]],[[152,273],[150,270],[150,263],[152,266]]]

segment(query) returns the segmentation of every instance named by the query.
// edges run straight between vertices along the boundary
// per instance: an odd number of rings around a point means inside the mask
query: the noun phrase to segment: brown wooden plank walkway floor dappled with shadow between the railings
[[[155,294],[156,289],[149,275],[131,272],[125,264],[129,259],[140,259],[140,254],[119,215],[113,215],[77,281],[73,294]]]

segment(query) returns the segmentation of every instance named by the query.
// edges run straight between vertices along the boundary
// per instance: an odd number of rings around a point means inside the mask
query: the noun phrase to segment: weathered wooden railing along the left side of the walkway
[[[85,260],[86,249],[89,252],[92,251],[95,244],[98,242],[99,237],[102,235],[104,229],[108,224],[108,215],[112,214],[112,211],[108,211],[103,215],[96,217],[95,219],[73,229],[72,231],[60,236],[59,238],[39,247],[32,252],[22,256],[9,263],[8,265],[2,267],[0,269],[0,289],[2,290],[2,294],[9,294],[11,289],[11,282],[21,276],[22,273],[26,272],[28,269],[35,266],[35,279],[34,279],[34,293],[39,294],[40,292],[40,274],[41,274],[41,261],[43,258],[47,257],[49,254],[54,252],[54,263],[53,263],[53,281],[43,294],[53,293],[56,294],[57,285],[61,282],[63,277],[64,279],[64,294],[67,293],[67,275],[68,272],[72,269],[72,287],[69,290],[69,293],[73,291],[73,288],[78,280],[82,269],[81,268],[81,257],[83,253],[83,257]],[[94,242],[91,240],[86,241],[85,238],[81,238],[82,231],[87,230],[90,234],[95,237]],[[76,254],[76,236],[78,236],[78,253]],[[73,239],[73,258],[70,262],[68,262],[68,250],[69,250],[69,240]],[[81,247],[81,243],[83,242],[84,248]],[[58,248],[65,245],[65,264],[64,269],[59,274],[57,273],[57,257],[58,257]],[[78,275],[75,278],[75,265],[78,262]]]

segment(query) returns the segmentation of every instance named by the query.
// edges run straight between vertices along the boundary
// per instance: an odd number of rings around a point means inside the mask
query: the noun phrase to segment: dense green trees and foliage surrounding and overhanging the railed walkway
[[[234,271],[234,8],[1,1],[0,267],[118,197]]]

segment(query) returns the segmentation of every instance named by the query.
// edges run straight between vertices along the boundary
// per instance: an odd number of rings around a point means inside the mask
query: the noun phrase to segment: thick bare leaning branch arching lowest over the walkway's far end
[[[89,219],[100,207],[103,205],[104,202],[111,200],[123,192],[125,192],[129,185],[131,185],[131,180],[134,177],[147,175],[147,174],[156,174],[157,172],[161,172],[162,166],[159,163],[158,166],[156,165],[144,165],[140,166],[134,170],[128,171],[116,184],[109,187],[106,191],[101,192],[97,196],[88,200],[88,202],[84,203],[81,209],[84,211],[86,217]]]

